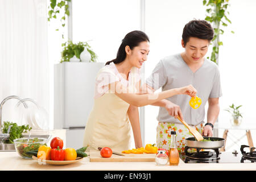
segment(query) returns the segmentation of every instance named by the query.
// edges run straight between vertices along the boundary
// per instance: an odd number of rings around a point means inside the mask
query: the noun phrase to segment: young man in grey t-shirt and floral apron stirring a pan
[[[168,90],[191,84],[202,101],[197,109],[189,105],[191,97],[185,95],[177,95],[155,102],[155,106],[160,106],[157,117],[159,121],[156,138],[158,147],[169,149],[172,130],[175,130],[177,134],[176,142],[179,152],[184,152],[185,139],[193,137],[177,119],[177,115],[188,125],[195,127],[203,136],[212,137],[213,135],[214,122],[220,111],[218,98],[222,96],[217,64],[204,57],[213,35],[212,26],[205,20],[192,20],[187,23],[181,40],[184,52],[160,60],[147,78],[146,85],[143,86],[144,92],[145,89],[147,92],[155,92],[160,87],[162,90]],[[204,126],[207,101],[209,107],[207,123]]]

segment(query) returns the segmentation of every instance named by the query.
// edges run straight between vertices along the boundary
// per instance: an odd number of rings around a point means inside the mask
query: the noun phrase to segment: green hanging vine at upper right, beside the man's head
[[[227,27],[228,23],[232,23],[228,18],[229,11],[227,11],[229,4],[229,0],[204,0],[204,6],[209,6],[207,9],[207,16],[205,20],[213,24],[214,29],[214,37],[211,42],[213,45],[212,53],[210,55],[210,60],[214,63],[218,64],[218,52],[219,47],[223,46],[223,42],[220,41],[220,35],[224,34],[224,30],[222,30],[221,26]],[[231,31],[234,34],[234,31]],[[209,57],[207,57],[209,59]]]

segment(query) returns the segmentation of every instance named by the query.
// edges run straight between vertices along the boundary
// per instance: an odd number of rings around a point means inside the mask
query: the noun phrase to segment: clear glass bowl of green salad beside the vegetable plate
[[[46,145],[47,138],[18,138],[14,140],[16,152],[24,159],[32,159],[40,146]]]

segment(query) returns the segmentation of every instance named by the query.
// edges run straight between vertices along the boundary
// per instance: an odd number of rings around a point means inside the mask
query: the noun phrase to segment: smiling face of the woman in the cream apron
[[[148,53],[150,51],[150,44],[148,42],[141,42],[138,46],[132,50],[129,46],[126,46],[127,58],[133,67],[141,68],[144,61],[147,60]]]

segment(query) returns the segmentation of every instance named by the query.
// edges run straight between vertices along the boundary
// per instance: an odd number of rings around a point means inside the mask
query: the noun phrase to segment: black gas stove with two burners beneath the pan
[[[249,152],[246,151],[250,147],[246,145],[241,146],[240,152],[220,152],[218,148],[196,148],[196,152],[188,152],[189,148],[186,146],[185,152],[180,155],[184,163],[256,163],[255,147],[251,147]]]

